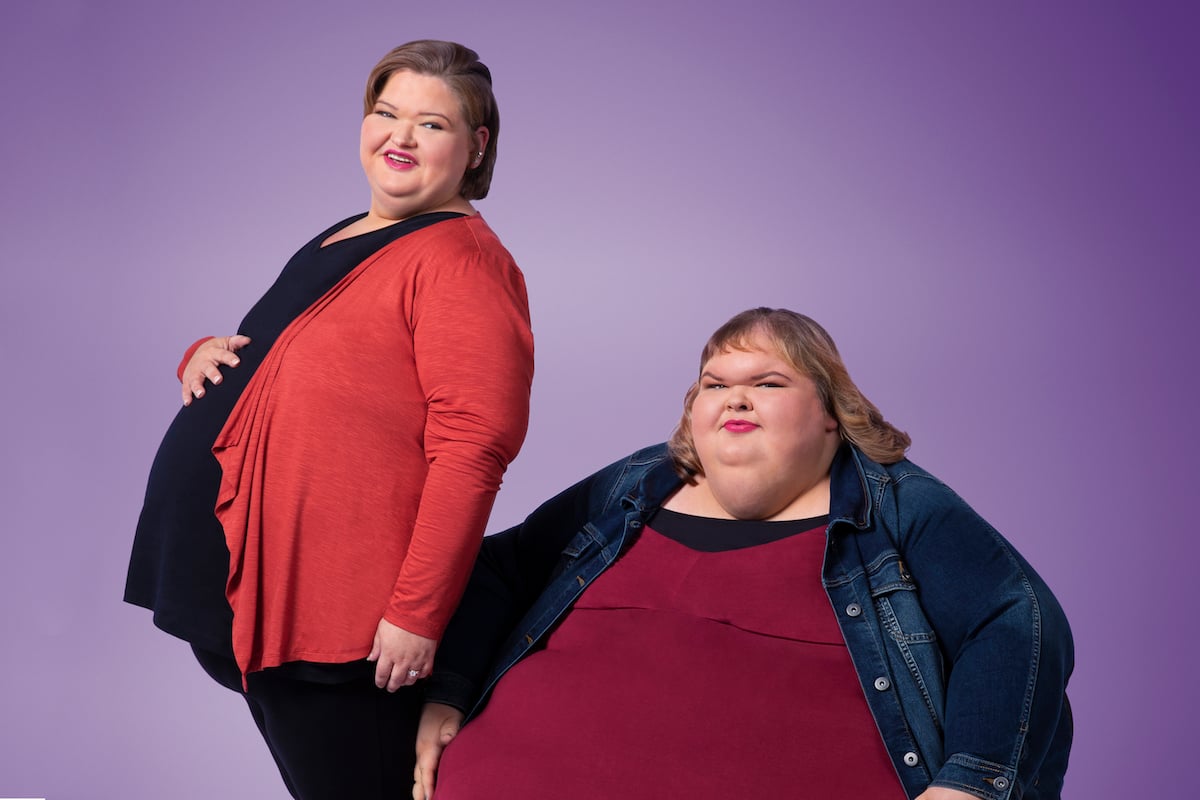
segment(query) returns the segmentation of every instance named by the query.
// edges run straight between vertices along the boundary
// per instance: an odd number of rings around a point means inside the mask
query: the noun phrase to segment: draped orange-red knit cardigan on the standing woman
[[[524,439],[524,279],[478,215],[384,247],[298,317],[212,452],[242,674],[440,638]]]

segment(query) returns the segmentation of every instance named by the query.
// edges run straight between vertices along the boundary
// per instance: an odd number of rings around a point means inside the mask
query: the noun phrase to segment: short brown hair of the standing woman
[[[379,60],[367,77],[362,97],[362,116],[374,110],[379,92],[394,72],[408,70],[416,74],[442,78],[462,106],[462,115],[474,131],[487,128],[487,145],[479,167],[468,168],[460,194],[467,200],[481,200],[492,186],[496,168],[496,142],[500,136],[500,109],[492,94],[492,72],[469,47],[455,42],[422,38],[392,49]]]

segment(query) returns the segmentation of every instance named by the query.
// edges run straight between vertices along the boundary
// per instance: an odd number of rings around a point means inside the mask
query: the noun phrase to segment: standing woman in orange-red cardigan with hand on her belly
[[[407,789],[413,685],[524,438],[524,279],[470,204],[498,132],[473,50],[390,52],[359,138],[367,210],[180,365],[125,599],[244,694],[302,800]]]

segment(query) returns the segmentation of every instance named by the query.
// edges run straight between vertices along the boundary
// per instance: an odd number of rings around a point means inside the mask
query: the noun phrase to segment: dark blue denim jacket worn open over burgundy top
[[[466,709],[479,698],[478,712],[679,485],[656,445],[488,536],[427,699]],[[908,796],[936,784],[986,800],[1057,799],[1073,645],[1033,569],[929,473],[877,464],[848,444],[830,470],[829,519],[821,579]]]

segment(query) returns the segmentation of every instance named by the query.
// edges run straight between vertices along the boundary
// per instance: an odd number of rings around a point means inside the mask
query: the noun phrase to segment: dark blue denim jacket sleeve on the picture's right
[[[946,662],[946,762],[932,786],[988,800],[1058,798],[1074,664],[1058,601],[941,482],[899,475],[894,498],[882,511],[894,515],[899,549]]]

